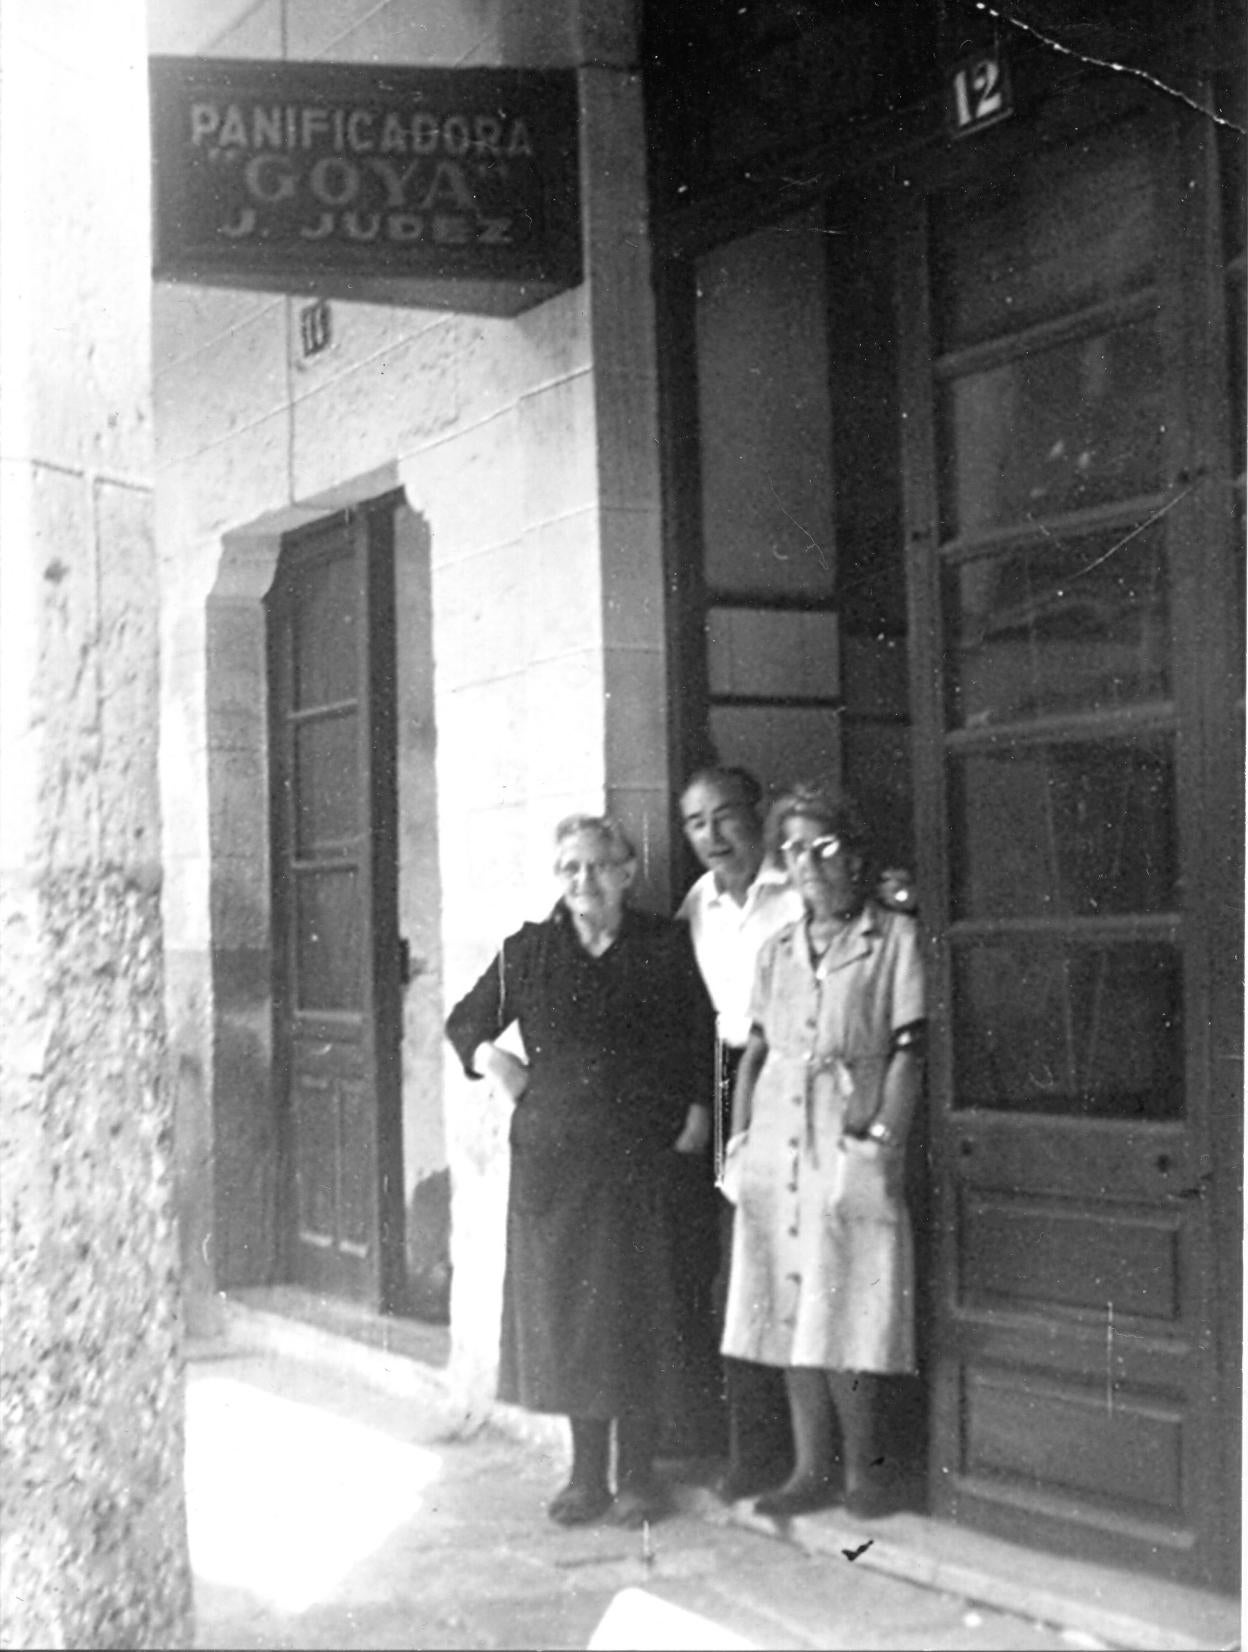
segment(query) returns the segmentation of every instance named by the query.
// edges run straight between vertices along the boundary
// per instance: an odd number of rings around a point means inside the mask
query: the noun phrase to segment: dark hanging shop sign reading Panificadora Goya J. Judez
[[[575,286],[570,69],[152,58],[154,274],[514,316]]]

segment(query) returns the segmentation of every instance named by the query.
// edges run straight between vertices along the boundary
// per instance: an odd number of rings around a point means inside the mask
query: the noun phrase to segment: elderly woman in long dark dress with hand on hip
[[[658,1517],[660,1412],[714,1356],[691,1277],[714,1269],[709,1004],[688,927],[625,904],[635,871],[612,819],[562,821],[562,899],[446,1023],[469,1077],[516,1104],[499,1398],[570,1421],[562,1525]],[[496,1042],[512,1023],[526,1059]]]

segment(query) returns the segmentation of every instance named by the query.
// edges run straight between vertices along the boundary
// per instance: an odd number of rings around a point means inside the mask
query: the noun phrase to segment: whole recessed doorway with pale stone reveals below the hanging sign
[[[208,600],[213,1285],[362,1335],[450,1308],[430,610],[397,492]]]

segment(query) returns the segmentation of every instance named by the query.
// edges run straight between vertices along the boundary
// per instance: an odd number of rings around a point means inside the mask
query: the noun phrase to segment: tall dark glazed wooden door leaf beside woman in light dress
[[[1236,1166],[1210,1061],[1225,841],[1207,851],[1213,811],[1235,839],[1238,781],[1215,757],[1235,586],[1193,345],[1203,139],[1150,99],[977,142],[901,208],[931,1495],[1217,1579]]]

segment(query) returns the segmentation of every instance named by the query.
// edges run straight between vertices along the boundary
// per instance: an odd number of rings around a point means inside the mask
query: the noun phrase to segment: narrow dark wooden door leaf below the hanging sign
[[[286,1274],[385,1308],[403,1256],[390,506],[284,540],[269,664]]]

